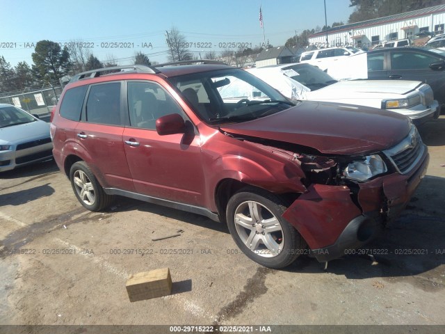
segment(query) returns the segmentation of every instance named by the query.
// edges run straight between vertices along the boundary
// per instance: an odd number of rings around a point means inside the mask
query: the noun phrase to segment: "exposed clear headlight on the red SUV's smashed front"
[[[363,182],[386,171],[387,165],[385,161],[382,160],[380,155],[373,154],[364,157],[363,160],[350,162],[343,170],[343,174],[350,180]]]

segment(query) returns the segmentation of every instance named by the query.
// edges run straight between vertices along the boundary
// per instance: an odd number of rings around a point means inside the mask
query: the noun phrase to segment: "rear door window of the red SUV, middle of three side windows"
[[[121,125],[120,82],[90,86],[86,102],[86,121]]]

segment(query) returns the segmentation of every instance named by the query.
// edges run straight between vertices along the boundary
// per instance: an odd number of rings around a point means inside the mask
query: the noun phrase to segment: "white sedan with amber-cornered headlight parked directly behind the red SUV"
[[[247,70],[291,100],[314,100],[371,106],[401,113],[421,125],[439,117],[432,89],[420,81],[340,81],[309,64],[282,64]],[[290,79],[290,80],[289,80]],[[291,85],[291,89],[285,88]]]

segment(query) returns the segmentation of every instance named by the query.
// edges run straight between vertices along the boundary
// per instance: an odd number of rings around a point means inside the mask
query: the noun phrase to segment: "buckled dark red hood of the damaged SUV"
[[[410,132],[410,120],[366,106],[305,101],[264,118],[221,125],[229,134],[304,145],[324,154],[385,150]]]

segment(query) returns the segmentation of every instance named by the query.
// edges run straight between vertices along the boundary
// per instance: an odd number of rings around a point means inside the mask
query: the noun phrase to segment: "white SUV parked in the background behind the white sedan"
[[[326,49],[317,49],[305,51],[300,56],[300,63],[314,65],[321,70],[333,65],[339,59],[358,53],[359,49],[349,49],[346,47],[327,47]]]

